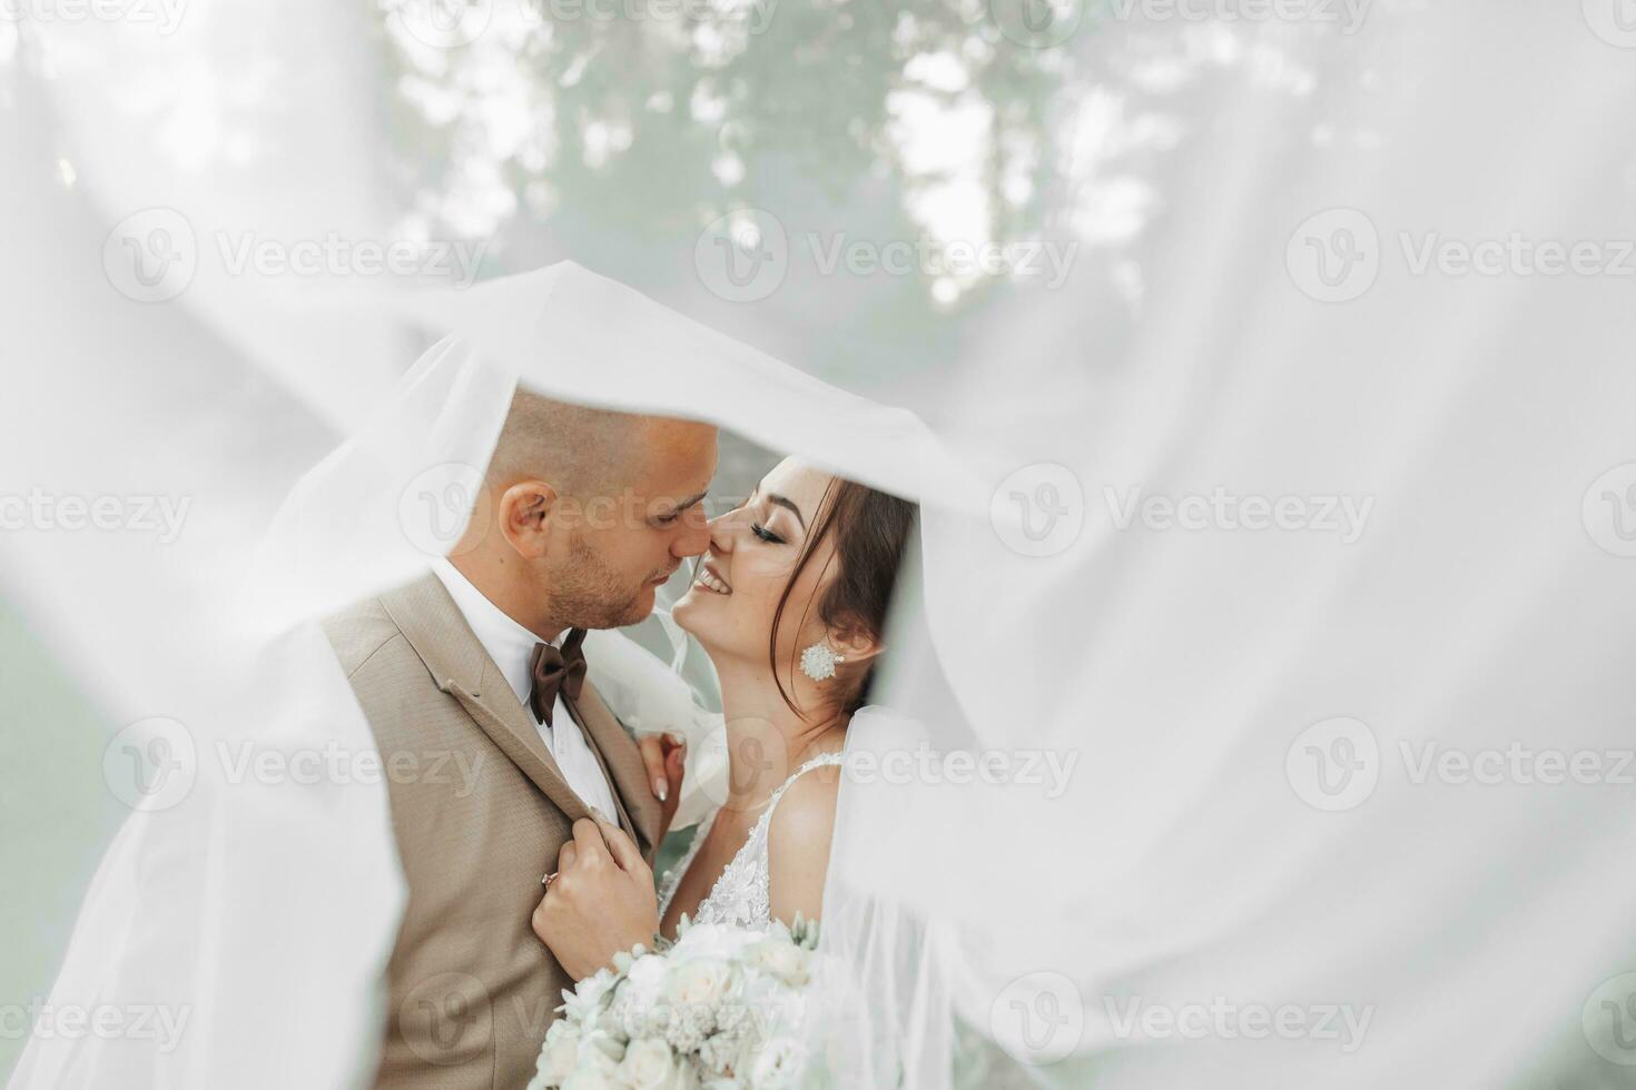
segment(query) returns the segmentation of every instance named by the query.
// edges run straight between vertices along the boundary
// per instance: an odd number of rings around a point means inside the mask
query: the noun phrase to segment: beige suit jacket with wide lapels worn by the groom
[[[375,1085],[522,1090],[573,985],[530,917],[586,804],[435,575],[324,631],[375,730],[409,882]],[[651,863],[659,806],[635,742],[589,683],[569,709]]]

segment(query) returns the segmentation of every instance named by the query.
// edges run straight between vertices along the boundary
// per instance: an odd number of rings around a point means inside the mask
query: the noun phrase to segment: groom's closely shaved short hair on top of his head
[[[651,422],[519,389],[489,459],[489,484],[538,477],[566,497],[612,494],[630,484],[631,462],[646,448]]]

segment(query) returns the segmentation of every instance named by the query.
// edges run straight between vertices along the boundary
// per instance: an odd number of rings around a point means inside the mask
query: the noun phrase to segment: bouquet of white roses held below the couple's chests
[[[803,989],[818,927],[766,931],[684,918],[563,992],[528,1090],[777,1090],[805,1064]]]

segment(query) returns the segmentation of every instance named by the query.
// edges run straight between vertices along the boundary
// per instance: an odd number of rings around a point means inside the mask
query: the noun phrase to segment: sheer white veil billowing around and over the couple
[[[183,28],[221,49],[175,92],[216,98],[188,101],[236,101],[263,52],[312,57],[258,185],[218,162],[164,176],[142,141],[188,150],[221,119],[146,124],[151,98],[95,82],[173,75],[175,51],[0,23],[0,60],[44,42],[52,69],[49,111],[5,72],[28,168],[0,173],[18,209],[0,490],[133,518],[190,500],[173,539],[0,536],[7,595],[133,724],[111,760],[185,784],[136,796],[52,997],[187,1018],[180,1046],[36,1038],[15,1085],[366,1077],[401,897],[381,784],[232,781],[198,755],[371,744],[309,628],[268,652],[226,603],[344,435],[254,587],[309,616],[424,564],[393,489],[481,464],[517,381],[718,420],[928,498],[923,610],[883,691],[903,714],[857,722],[875,771],[854,763],[831,860],[825,948],[847,972],[815,1048],[839,1085],[1623,1085],[1636,139],[1616,111],[1636,67],[1618,5],[1382,0],[1350,29],[1315,18],[1333,5],[1057,7],[1085,33],[1062,46],[1081,83],[1055,103],[1072,185],[1052,229],[1085,257],[1060,288],[1008,291],[939,374],[939,430],[993,500],[977,513],[900,413],[571,266],[412,304],[203,266],[175,306],[110,291],[110,227],[178,190],[201,235],[368,221],[348,134],[373,119],[326,49],[344,15],[200,0]],[[57,181],[70,159],[77,188]],[[1494,242],[1500,271],[1477,270]],[[1553,273],[1544,242],[1593,245]],[[406,312],[465,338],[393,405],[424,430],[371,430],[424,345]],[[664,366],[645,395],[537,345]],[[748,376],[756,412],[702,374]],[[391,487],[348,500],[358,480]],[[380,552],[280,569],[353,511]]]

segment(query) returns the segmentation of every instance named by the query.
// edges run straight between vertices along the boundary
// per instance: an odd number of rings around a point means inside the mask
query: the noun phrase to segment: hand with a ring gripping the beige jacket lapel
[[[581,817],[556,856],[556,878],[533,910],[533,933],[576,981],[636,943],[653,945],[659,907],[653,871],[630,837]]]

